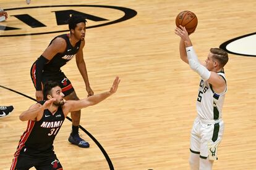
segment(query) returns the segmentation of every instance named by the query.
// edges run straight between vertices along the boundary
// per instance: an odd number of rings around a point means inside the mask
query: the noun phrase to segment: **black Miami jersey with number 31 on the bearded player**
[[[45,101],[38,102],[41,105]],[[46,153],[53,150],[53,141],[61,128],[65,119],[62,107],[59,107],[54,115],[48,110],[43,111],[43,117],[40,121],[28,121],[27,130],[23,132],[20,137],[17,152],[14,154],[19,155],[20,150],[33,150],[36,153]]]

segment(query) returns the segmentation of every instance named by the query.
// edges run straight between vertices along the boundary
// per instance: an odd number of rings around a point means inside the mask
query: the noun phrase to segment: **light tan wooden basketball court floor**
[[[199,78],[179,59],[179,38],[174,34],[176,15],[192,10],[198,27],[191,38],[198,57],[204,60],[210,47],[254,33],[256,1],[33,1],[2,0],[2,9],[54,5],[105,5],[137,11],[134,18],[113,25],[87,30],[83,49],[90,84],[95,93],[107,91],[115,76],[121,84],[108,100],[82,110],[81,125],[105,148],[114,169],[189,169],[189,137],[197,115],[195,101]],[[67,9],[70,9],[70,7]],[[54,9],[29,10],[39,20],[56,29]],[[82,8],[81,8],[82,10]],[[33,29],[18,22],[24,10],[9,10],[0,25],[22,28],[12,34]],[[83,11],[85,12],[85,11]],[[32,15],[30,14],[30,15]],[[108,20],[121,18],[119,10],[88,8],[88,14]],[[96,25],[88,20],[87,26]],[[24,30],[27,29],[27,30]],[[38,31],[44,31],[41,28]],[[67,30],[67,25],[58,29]],[[61,33],[1,37],[0,85],[30,97],[35,90],[30,67]],[[9,33],[9,32],[8,32]],[[244,44],[247,46],[247,44]],[[77,94],[86,97],[82,76],[70,61],[63,69]],[[213,169],[256,169],[256,59],[229,54],[225,67],[228,94],[223,108],[224,137]],[[19,115],[35,103],[0,87],[0,105],[14,105],[12,115],[0,119],[0,169],[9,169],[26,122]],[[90,148],[78,148],[67,141],[71,129],[66,120],[54,142],[55,152],[64,169],[109,169],[100,148],[82,131]]]

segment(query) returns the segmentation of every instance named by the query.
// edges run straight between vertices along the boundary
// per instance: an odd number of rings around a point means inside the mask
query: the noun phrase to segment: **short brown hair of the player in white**
[[[228,52],[219,48],[211,48],[210,52],[213,54],[213,59],[218,60],[221,67],[228,63]]]

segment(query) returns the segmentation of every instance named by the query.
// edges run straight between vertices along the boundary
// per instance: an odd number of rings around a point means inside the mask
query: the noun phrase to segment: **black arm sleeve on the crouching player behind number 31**
[[[48,59],[43,57],[41,55],[37,60],[36,60],[36,69],[35,69],[35,76],[36,76],[36,91],[41,91],[42,86],[41,86],[41,81],[42,81],[42,73],[43,73],[43,67],[45,64],[49,62]]]

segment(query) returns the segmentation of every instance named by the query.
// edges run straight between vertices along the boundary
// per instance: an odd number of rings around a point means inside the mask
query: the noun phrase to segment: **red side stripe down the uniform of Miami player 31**
[[[20,137],[20,142],[17,147],[17,151],[14,153],[14,159],[12,160],[11,170],[15,169],[15,166],[17,164],[17,158],[20,155],[20,150],[22,150],[22,148],[25,146],[25,142],[27,141],[30,133],[32,132],[34,125],[35,125],[35,121],[32,121],[32,120],[28,121],[27,130]]]

